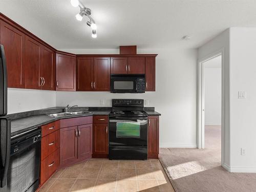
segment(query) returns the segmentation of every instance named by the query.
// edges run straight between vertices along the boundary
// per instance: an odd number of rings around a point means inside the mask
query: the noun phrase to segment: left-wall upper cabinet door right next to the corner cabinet
[[[43,90],[55,90],[55,53],[45,46],[41,47],[41,75]]]

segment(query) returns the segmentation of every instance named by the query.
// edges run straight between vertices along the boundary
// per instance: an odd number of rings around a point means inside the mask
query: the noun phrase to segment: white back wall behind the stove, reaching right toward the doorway
[[[98,53],[97,50],[62,50],[72,53]],[[102,53],[102,50],[99,50]],[[118,53],[105,50],[103,53]],[[138,50],[158,53],[156,58],[156,92],[114,94],[110,92],[56,92],[56,105],[111,106],[114,98],[148,99],[149,106],[160,112],[161,147],[196,147],[196,49]]]

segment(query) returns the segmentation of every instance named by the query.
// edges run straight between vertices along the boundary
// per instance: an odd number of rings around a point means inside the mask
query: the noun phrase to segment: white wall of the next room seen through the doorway
[[[219,66],[220,59],[214,58],[216,66],[211,65],[210,60],[204,62],[204,79],[205,79],[205,95],[204,95],[204,124],[205,125],[221,125],[221,68]]]

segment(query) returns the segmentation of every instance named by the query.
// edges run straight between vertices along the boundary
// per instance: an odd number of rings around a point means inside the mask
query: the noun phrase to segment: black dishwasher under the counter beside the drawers
[[[34,192],[39,185],[41,129],[11,137],[7,191]]]

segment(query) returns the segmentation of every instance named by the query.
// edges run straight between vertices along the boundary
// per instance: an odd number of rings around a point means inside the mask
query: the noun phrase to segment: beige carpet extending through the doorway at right
[[[256,174],[228,173],[221,166],[221,127],[205,127],[205,149],[160,148],[160,161],[178,192],[256,191]]]

